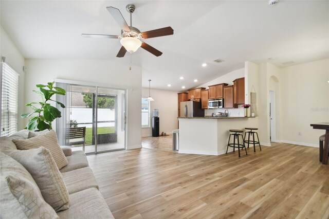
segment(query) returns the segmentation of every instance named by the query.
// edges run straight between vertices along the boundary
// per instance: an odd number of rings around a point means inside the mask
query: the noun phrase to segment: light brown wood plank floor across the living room
[[[115,218],[329,217],[329,166],[317,148],[247,151],[239,158],[143,148],[88,160]]]

